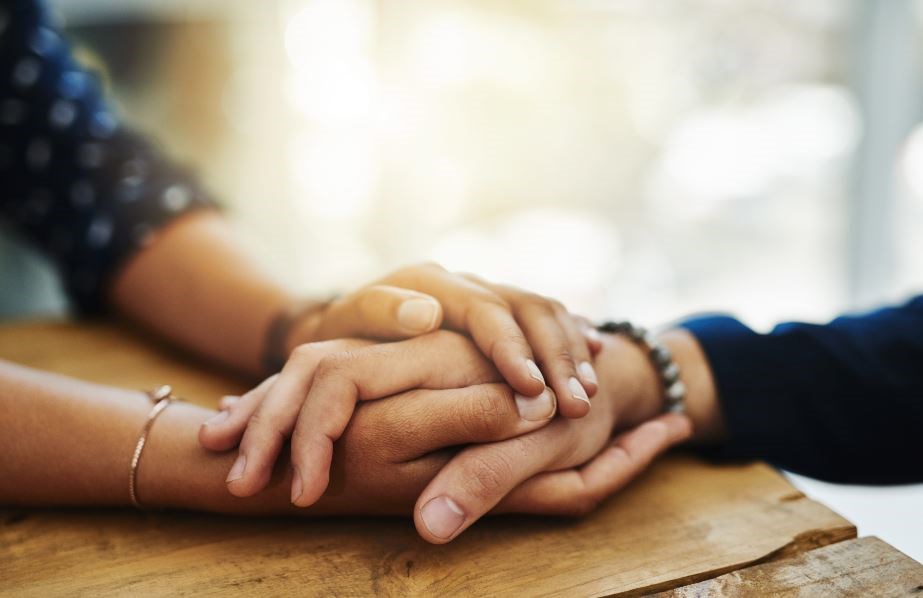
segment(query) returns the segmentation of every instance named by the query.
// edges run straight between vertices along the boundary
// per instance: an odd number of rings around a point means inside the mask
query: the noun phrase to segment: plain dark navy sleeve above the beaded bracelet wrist
[[[769,334],[725,316],[682,326],[714,373],[721,456],[834,482],[923,482],[923,296]]]

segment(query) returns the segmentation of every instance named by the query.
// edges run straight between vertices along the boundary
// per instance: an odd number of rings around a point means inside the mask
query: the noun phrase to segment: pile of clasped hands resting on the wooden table
[[[441,544],[487,513],[588,513],[691,434],[659,414],[630,341],[438,266],[338,299],[299,331],[279,374],[200,429],[207,449],[238,447],[236,496],[289,484],[306,513],[412,508]]]

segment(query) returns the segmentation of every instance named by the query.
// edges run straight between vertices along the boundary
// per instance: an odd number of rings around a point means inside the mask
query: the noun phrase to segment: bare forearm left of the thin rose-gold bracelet
[[[0,361],[0,502],[128,504],[131,450],[149,409],[140,392]]]

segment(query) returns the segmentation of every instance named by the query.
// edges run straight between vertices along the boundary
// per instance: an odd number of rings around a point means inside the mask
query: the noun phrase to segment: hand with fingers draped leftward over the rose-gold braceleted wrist
[[[292,502],[309,506],[327,487],[334,443],[347,429],[357,402],[499,381],[477,347],[453,332],[386,344],[342,340],[302,345],[281,374],[235,402],[226,415],[207,422],[200,439],[213,450],[240,443],[228,488],[236,496],[252,496],[269,483],[283,442],[291,437]],[[512,396],[522,420],[520,434],[554,416],[550,390],[538,397]]]

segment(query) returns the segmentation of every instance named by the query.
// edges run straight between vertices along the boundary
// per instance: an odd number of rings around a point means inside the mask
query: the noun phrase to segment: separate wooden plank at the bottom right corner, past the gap
[[[659,598],[719,596],[923,596],[923,565],[868,537],[848,540],[663,592]]]

